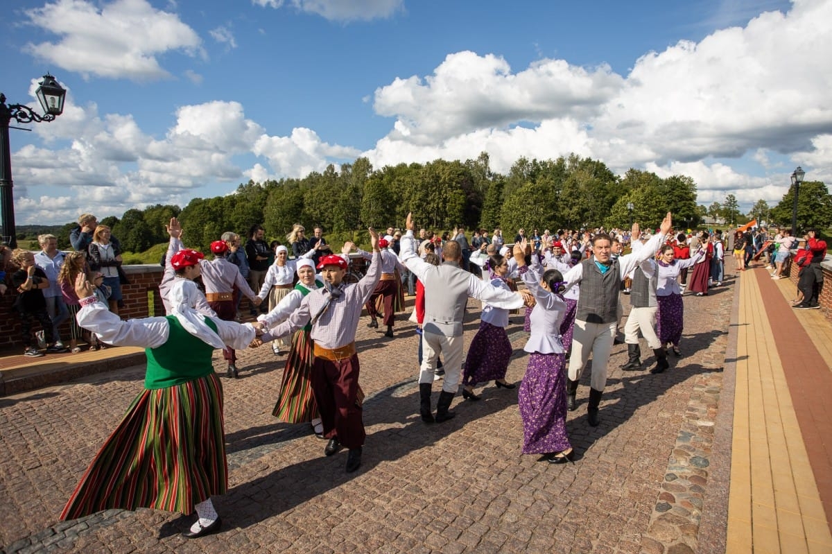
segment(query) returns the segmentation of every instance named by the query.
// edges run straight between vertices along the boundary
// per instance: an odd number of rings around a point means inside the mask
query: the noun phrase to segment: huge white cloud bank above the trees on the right
[[[701,203],[729,189],[740,204],[776,202],[789,183],[783,155],[827,168],[832,159],[832,58],[819,55],[832,52],[832,33],[805,32],[819,21],[832,21],[832,2],[795,0],[788,14],[649,52],[625,77],[548,59],[513,73],[500,57],[451,54],[433,75],[376,90],[375,111],[396,121],[365,155],[384,166],[488,151],[505,172],[519,156],[575,152],[619,173],[684,168]],[[712,161],[748,153],[765,176]]]

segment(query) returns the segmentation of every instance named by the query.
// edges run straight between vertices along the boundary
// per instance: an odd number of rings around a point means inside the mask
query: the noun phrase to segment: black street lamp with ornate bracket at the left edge
[[[67,95],[55,77],[48,73],[37,87],[37,99],[41,102],[42,116],[29,106],[6,105],[6,95],[0,92],[0,219],[2,219],[2,240],[10,248],[17,248],[17,231],[14,227],[14,196],[12,195],[12,151],[8,141],[9,122],[40,123],[52,121],[63,113],[63,100]]]

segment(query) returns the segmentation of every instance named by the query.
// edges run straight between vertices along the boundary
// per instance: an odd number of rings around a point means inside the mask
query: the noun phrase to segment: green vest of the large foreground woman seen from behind
[[[172,387],[214,372],[211,363],[214,347],[188,333],[175,315],[168,315],[166,319],[170,329],[166,343],[155,349],[145,349],[145,388]],[[210,318],[206,318],[206,324],[216,331],[216,324]]]

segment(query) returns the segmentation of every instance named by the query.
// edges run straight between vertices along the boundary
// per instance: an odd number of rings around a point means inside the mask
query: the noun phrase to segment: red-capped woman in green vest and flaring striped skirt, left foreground
[[[245,348],[255,328],[193,309],[201,293],[191,279],[200,275],[201,258],[196,250],[180,250],[171,259],[177,279],[166,317],[122,321],[97,301],[86,275],[78,275],[78,323],[108,344],[145,347],[147,371],[144,390],[87,467],[62,520],[149,507],[196,510],[196,522],[182,533],[188,538],[220,530],[210,497],[225,493],[228,469],[222,386],[211,354],[226,345]]]

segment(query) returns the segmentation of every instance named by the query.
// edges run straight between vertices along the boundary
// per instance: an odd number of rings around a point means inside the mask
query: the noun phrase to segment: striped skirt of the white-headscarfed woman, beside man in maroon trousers
[[[318,417],[310,373],[312,372],[312,340],[304,329],[292,335],[292,346],[286,357],[283,382],[280,383],[275,409],[271,414],[285,423],[310,422]]]

